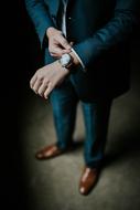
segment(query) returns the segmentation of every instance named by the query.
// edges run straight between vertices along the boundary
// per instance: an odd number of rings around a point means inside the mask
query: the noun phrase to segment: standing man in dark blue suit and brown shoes
[[[82,195],[97,182],[112,98],[129,90],[129,41],[138,0],[25,0],[44,52],[31,88],[50,96],[57,140],[41,149],[49,159],[73,146],[76,106],[82,102],[85,166]]]

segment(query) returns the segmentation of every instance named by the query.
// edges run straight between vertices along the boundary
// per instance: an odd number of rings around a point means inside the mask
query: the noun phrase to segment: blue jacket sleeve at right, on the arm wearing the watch
[[[138,2],[139,0],[117,0],[110,21],[90,38],[73,46],[86,67],[103,52],[129,36],[138,22]]]

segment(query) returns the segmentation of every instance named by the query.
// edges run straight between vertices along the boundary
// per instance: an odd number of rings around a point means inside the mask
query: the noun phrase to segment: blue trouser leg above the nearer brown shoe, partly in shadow
[[[104,157],[111,99],[83,103],[86,127],[85,162],[88,167],[99,167]]]

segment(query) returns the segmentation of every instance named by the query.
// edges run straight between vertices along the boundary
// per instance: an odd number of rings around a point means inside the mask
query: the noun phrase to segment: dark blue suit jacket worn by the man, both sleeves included
[[[49,27],[57,29],[60,0],[25,0],[35,25],[45,64],[54,59],[47,49]],[[82,101],[116,97],[129,88],[129,41],[137,24],[139,0],[68,0],[67,40],[74,42],[86,66],[69,75]]]

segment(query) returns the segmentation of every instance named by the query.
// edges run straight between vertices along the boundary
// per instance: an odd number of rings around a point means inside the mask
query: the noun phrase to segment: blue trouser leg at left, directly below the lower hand
[[[72,144],[77,102],[77,95],[68,80],[51,94],[57,146],[62,149]]]

